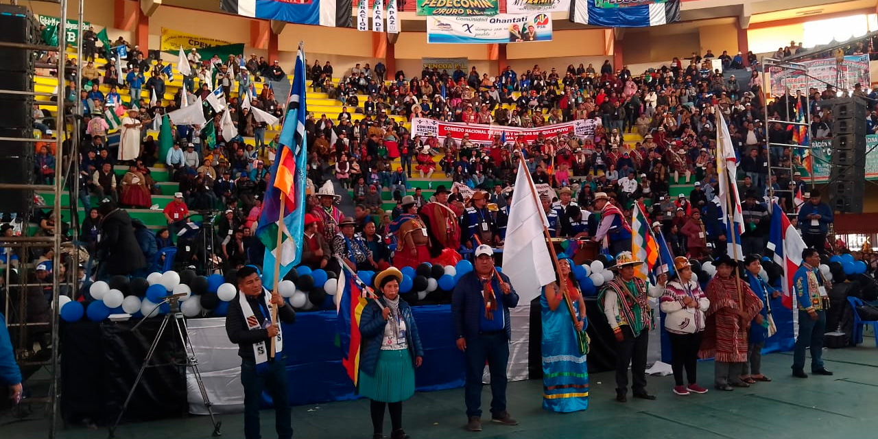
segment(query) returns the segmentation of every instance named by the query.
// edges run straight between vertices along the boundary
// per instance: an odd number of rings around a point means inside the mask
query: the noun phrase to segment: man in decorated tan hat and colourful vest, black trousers
[[[598,306],[607,316],[615,336],[615,400],[628,400],[628,365],[631,365],[631,390],[635,398],[656,399],[646,392],[646,351],[649,334],[655,327],[649,298],[658,298],[665,291],[667,275],[659,275],[659,286],[650,286],[634,276],[637,261],[630,251],[616,255],[613,280],[598,296]]]

